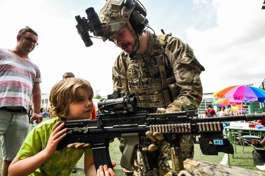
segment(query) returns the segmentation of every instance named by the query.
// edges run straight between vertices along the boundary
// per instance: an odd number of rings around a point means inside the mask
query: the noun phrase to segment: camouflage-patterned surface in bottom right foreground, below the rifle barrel
[[[193,159],[184,161],[184,169],[196,176],[265,176],[264,172]],[[172,173],[169,172],[165,176],[172,176]]]

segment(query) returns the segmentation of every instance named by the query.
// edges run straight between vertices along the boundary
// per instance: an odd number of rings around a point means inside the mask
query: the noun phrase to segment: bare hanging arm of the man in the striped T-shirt
[[[33,116],[31,117],[30,123],[33,124],[33,121],[37,120],[38,124],[42,121],[42,116],[40,115],[40,82],[34,82],[32,88],[32,105],[33,105]]]

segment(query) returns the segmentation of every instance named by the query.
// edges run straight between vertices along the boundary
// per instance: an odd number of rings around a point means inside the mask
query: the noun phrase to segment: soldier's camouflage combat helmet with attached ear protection
[[[101,36],[104,42],[108,39],[114,42],[110,37],[127,24],[136,41],[133,51],[138,49],[139,36],[148,24],[148,20],[145,18],[146,11],[138,2],[134,0],[106,1],[99,13],[100,22],[105,29],[105,34]]]

